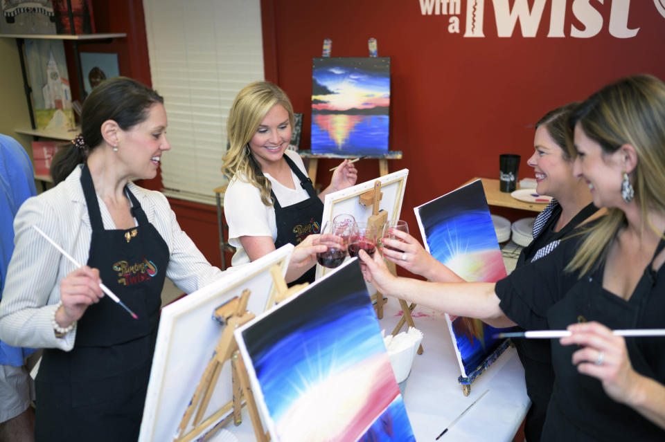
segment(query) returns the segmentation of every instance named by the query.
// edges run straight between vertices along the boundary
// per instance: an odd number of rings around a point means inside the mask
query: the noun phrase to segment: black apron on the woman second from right
[[[515,268],[529,264],[538,250],[553,241],[565,238],[567,234],[597,210],[598,208],[590,203],[580,210],[561,230],[554,232],[553,229],[562,212],[561,206],[558,205],[542,226],[538,237],[535,237],[528,246],[522,249]],[[524,329],[515,327],[515,331],[524,331]],[[515,350],[517,350],[517,356],[520,356],[520,361],[522,361],[522,367],[524,367],[526,394],[531,399],[531,407],[529,407],[529,412],[526,414],[524,435],[527,441],[538,442],[540,441],[540,434],[545,422],[547,405],[554,383],[550,343],[547,339],[515,339],[513,344]]]

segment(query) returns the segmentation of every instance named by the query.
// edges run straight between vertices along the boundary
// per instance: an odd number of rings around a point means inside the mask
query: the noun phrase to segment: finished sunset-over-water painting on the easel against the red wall
[[[388,151],[390,57],[321,57],[312,66],[312,154]]]

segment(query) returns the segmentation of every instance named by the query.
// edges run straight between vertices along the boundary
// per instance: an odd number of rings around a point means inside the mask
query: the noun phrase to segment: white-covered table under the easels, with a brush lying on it
[[[398,322],[399,304],[391,298],[381,327],[387,333]],[[420,306],[414,311],[416,327],[423,331],[422,355],[416,355],[407,380],[404,401],[417,441],[434,441],[447,425],[459,416],[486,389],[490,391],[463,416],[440,442],[512,441],[529,409],[524,385],[524,369],[514,348],[509,348],[471,385],[464,396],[457,382],[459,365],[450,333],[441,313]],[[247,409],[242,410],[242,425],[227,425],[241,442],[256,440]],[[210,441],[215,441],[213,436]]]

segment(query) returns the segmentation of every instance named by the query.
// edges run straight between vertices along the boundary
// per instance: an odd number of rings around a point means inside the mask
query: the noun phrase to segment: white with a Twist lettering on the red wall
[[[418,1],[420,14],[447,17],[447,32],[461,34],[461,6],[463,0],[413,0]],[[635,37],[639,27],[628,25],[630,0],[605,0],[611,2],[608,32],[615,38]],[[639,3],[646,0],[641,0]],[[665,0],[653,0],[658,12],[665,17]],[[544,17],[545,6],[549,3],[549,19]],[[534,0],[529,7],[528,0],[465,0],[463,37],[485,37],[485,11],[493,8],[497,37],[513,37],[517,23],[522,37],[535,37],[542,26],[549,26],[547,37],[595,37],[603,30],[603,15],[597,9],[603,0]],[[570,10],[576,21],[565,27],[566,12]]]

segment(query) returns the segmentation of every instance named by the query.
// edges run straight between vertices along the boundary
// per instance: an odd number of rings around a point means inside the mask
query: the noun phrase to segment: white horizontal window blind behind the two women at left
[[[227,118],[238,91],[263,80],[259,0],[143,0],[152,87],[164,98],[167,196],[215,203]]]

